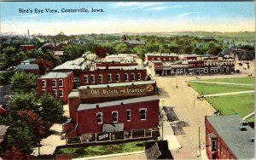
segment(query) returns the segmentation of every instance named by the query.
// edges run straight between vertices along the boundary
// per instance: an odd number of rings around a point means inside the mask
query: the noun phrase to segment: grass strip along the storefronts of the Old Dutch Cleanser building
[[[116,154],[132,151],[143,151],[145,149],[144,143],[146,141],[127,142],[119,145],[107,146],[88,146],[79,148],[62,148],[57,151],[58,154],[72,154],[73,158],[77,157],[94,157],[107,154]]]

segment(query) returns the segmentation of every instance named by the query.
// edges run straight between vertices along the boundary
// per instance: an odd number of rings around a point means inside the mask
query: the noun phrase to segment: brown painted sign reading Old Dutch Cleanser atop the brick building
[[[151,95],[155,94],[155,83],[133,83],[131,85],[125,84],[121,86],[112,85],[98,85],[99,87],[90,88],[90,86],[84,86],[79,89],[81,99],[90,98],[103,98],[111,96],[129,96],[129,95]]]

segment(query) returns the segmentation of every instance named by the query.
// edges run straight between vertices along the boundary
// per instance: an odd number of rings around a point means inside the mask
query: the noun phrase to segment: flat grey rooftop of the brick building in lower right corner
[[[206,118],[238,159],[253,159],[254,142],[250,139],[254,137],[254,130],[247,125],[247,130],[241,131],[239,127],[243,121],[240,117],[229,115],[207,116]]]

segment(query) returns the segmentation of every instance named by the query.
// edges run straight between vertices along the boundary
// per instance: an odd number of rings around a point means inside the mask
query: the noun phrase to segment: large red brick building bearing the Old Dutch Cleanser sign
[[[68,95],[70,120],[63,125],[68,137],[87,133],[153,129],[159,123],[155,82],[81,86]],[[115,127],[114,127],[115,126]],[[116,131],[117,131],[116,130]]]

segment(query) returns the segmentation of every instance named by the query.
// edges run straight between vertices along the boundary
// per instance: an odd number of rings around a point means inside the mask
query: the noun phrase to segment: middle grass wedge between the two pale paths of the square
[[[211,83],[194,83],[189,82],[190,86],[195,89],[198,94],[219,94],[228,92],[239,92],[253,90],[254,86],[241,85],[225,85],[225,84],[211,84]]]

